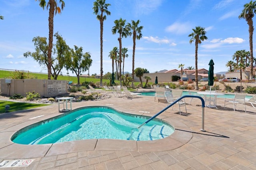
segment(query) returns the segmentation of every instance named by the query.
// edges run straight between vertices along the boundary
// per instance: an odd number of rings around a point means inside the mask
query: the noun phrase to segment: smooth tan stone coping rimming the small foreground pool
[[[94,105],[93,105],[94,106]],[[99,105],[95,105],[99,106]],[[110,107],[110,106],[108,106]],[[133,115],[144,115],[152,116],[147,113],[130,113],[127,110],[120,107],[112,107],[123,113],[133,114]],[[78,108],[79,109],[79,108]],[[86,139],[79,141],[69,141],[63,143],[53,143],[53,144],[42,144],[42,145],[22,145],[13,143],[11,137],[20,129],[25,128],[34,123],[50,119],[52,117],[61,115],[63,113],[52,113],[44,117],[38,117],[8,127],[7,129],[1,131],[0,140],[0,155],[1,158],[31,158],[31,157],[42,157],[42,156],[52,156],[58,154],[66,154],[71,152],[89,151],[89,150],[116,150],[116,151],[136,151],[136,152],[160,152],[173,150],[185,145],[192,139],[192,130],[184,123],[171,119],[170,117],[159,116],[165,123],[172,125],[175,129],[174,133],[169,137],[164,139],[158,139],[154,141],[125,141],[116,139]]]

